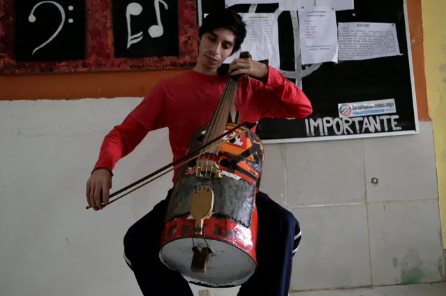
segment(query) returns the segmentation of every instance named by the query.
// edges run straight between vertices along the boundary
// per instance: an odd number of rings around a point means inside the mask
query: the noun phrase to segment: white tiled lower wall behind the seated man
[[[141,295],[122,239],[172,175],[102,212],[84,209],[103,136],[139,101],[0,102],[1,295]],[[302,223],[293,289],[444,279],[432,127],[421,126],[419,135],[266,146],[262,190]],[[166,147],[165,130],[150,133],[118,163],[112,191],[170,162]]]

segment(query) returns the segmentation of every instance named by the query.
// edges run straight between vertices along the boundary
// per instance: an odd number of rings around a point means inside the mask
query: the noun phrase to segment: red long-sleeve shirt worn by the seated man
[[[173,160],[183,157],[195,129],[211,121],[226,82],[225,77],[193,70],[161,80],[121,124],[105,135],[94,170],[112,171],[149,131],[165,127],[169,129]],[[265,117],[303,118],[312,112],[302,90],[271,66],[266,82],[241,79],[235,101],[240,122]],[[176,176],[174,172],[173,179]]]

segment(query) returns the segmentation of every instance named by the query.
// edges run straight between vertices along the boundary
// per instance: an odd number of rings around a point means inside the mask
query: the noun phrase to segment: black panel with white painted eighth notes
[[[112,0],[114,57],[179,56],[177,0]]]

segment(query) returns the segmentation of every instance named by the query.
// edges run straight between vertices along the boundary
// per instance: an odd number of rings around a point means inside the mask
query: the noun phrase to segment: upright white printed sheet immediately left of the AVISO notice
[[[299,10],[302,65],[338,61],[336,13],[330,6]]]

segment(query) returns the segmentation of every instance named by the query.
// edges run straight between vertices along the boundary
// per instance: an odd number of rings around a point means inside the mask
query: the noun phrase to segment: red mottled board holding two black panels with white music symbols
[[[1,0],[0,73],[184,68],[198,54],[189,0]]]

